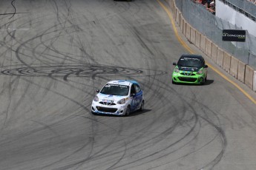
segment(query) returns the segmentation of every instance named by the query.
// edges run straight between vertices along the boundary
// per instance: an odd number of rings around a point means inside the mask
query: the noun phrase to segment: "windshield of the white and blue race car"
[[[105,95],[128,95],[129,86],[119,84],[106,84],[100,93]]]

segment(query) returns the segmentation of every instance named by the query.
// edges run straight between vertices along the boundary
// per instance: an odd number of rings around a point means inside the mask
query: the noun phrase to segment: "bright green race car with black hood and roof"
[[[201,55],[181,55],[172,73],[172,83],[204,84],[207,80],[208,66]]]

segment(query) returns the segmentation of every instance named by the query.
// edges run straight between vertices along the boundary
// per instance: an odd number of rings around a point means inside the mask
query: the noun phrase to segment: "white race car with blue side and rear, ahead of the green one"
[[[128,116],[144,109],[143,92],[137,81],[109,81],[96,92],[91,104],[93,114]]]

